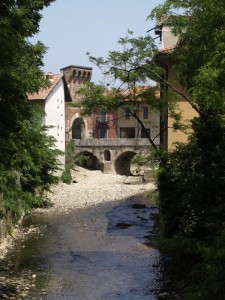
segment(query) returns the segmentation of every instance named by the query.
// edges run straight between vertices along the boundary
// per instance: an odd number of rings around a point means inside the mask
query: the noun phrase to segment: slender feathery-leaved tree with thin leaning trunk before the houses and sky
[[[77,91],[82,99],[76,104],[81,108],[81,113],[90,115],[99,113],[100,110],[123,109],[124,114],[127,111],[145,132],[145,124],[139,117],[140,103],[160,114],[164,105],[169,102],[171,115],[176,118],[176,125],[179,127],[181,116],[175,113],[174,103],[169,100],[170,95],[167,94],[159,100],[159,86],[151,80],[161,80],[164,74],[164,70],[153,59],[158,52],[153,38],[149,35],[135,38],[134,33],[128,30],[118,44],[121,50],[110,51],[107,58],[89,56],[90,61],[101,69],[107,85],[90,83]],[[163,164],[163,155],[154,138],[149,137],[147,132],[146,137],[155,150],[158,162]]]

